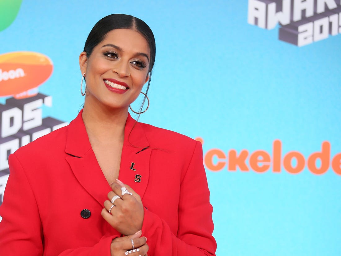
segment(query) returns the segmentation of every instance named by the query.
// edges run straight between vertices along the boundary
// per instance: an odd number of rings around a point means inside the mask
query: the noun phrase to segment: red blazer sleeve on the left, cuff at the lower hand
[[[44,230],[39,209],[27,176],[15,155],[10,155],[10,176],[0,207],[0,255],[42,256]],[[110,244],[117,236],[102,237],[92,247],[69,249],[60,256],[110,256]]]

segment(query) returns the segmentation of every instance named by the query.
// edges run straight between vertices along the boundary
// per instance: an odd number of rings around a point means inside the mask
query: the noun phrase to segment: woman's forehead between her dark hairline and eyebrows
[[[147,40],[142,34],[133,29],[114,29],[109,31],[99,47],[106,44],[114,44],[123,51],[135,53],[145,53],[150,56],[150,50]]]

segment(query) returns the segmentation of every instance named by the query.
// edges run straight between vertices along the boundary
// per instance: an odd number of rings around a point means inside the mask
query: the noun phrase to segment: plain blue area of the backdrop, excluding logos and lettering
[[[307,159],[323,141],[331,157],[341,152],[341,35],[303,47],[279,41],[278,27],[247,23],[247,1],[23,1],[0,32],[0,54],[32,51],[53,61],[39,87],[53,96],[44,116],[77,115],[78,56],[92,26],[112,13],[144,20],[155,35],[151,103],[140,122],[201,137],[204,154],[271,155],[276,139],[282,157],[298,151]],[[341,177],[331,168],[323,175],[283,166],[262,174],[206,170],[218,256],[341,255]]]

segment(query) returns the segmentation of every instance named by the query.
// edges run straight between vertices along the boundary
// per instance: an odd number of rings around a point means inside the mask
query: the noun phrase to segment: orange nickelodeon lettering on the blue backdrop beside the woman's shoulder
[[[196,140],[203,143],[201,138]],[[264,150],[256,150],[252,153],[248,150],[241,150],[238,154],[234,149],[225,154],[224,151],[213,148],[206,152],[204,163],[207,169],[213,172],[227,168],[228,171],[239,169],[242,172],[253,170],[257,173],[264,173],[271,168],[274,173],[280,173],[284,169],[290,174],[298,174],[307,167],[311,173],[321,175],[331,167],[336,174],[341,175],[341,153],[331,157],[328,141],[322,143],[321,151],[313,152],[308,158],[298,151],[290,151],[282,155],[282,142],[275,140],[271,154]]]

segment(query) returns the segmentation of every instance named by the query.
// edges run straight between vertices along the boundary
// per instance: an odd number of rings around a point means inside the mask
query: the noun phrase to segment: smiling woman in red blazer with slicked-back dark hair
[[[79,56],[84,109],[9,158],[0,255],[215,254],[201,144],[128,114],[154,60],[142,20],[93,27]]]

